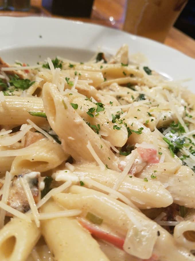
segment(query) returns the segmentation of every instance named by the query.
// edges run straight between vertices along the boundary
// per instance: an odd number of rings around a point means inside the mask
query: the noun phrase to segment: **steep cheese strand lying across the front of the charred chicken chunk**
[[[33,198],[32,192],[30,190],[29,184],[28,184],[27,180],[24,179],[24,178],[21,178],[20,182],[22,183],[22,186],[24,188],[24,192],[25,192],[26,197],[28,199],[28,204],[29,204],[30,209],[32,211],[34,221],[35,221],[37,227],[40,227],[39,212],[38,212],[38,209],[37,209],[36,204],[34,202],[34,198]]]

